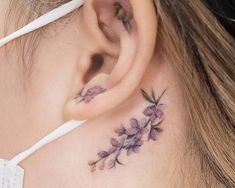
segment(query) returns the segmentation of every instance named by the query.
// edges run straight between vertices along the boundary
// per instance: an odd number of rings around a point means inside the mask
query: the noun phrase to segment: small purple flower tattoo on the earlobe
[[[85,102],[89,103],[92,101],[97,95],[103,93],[106,91],[106,89],[102,88],[101,86],[94,86],[90,89],[88,89],[84,94],[83,94],[84,88],[79,91],[77,96],[75,97],[76,100],[78,100],[78,103],[80,102]]]

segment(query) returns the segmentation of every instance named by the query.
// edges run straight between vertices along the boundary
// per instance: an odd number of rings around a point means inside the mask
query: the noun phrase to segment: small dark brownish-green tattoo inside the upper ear
[[[119,2],[115,2],[113,6],[115,8],[114,16],[118,20],[122,21],[123,26],[130,33],[132,30],[130,21],[132,20],[133,16],[131,13],[128,13]]]

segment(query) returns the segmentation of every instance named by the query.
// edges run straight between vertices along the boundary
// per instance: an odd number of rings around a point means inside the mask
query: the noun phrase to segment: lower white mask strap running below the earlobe
[[[34,152],[42,148],[43,146],[49,144],[50,142],[64,136],[65,134],[71,132],[75,128],[81,126],[85,121],[75,121],[71,120],[66,123],[64,123],[62,126],[48,134],[46,137],[41,139],[39,142],[37,142],[35,145],[33,145],[31,148],[25,150],[24,152],[16,155],[14,158],[12,158],[9,161],[9,165],[18,165],[21,161],[25,160],[27,157],[32,155]]]

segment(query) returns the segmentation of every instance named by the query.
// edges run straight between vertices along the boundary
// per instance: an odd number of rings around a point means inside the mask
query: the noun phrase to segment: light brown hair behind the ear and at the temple
[[[29,9],[24,9],[27,20],[20,23],[24,25],[67,1],[31,0]],[[16,4],[17,0],[12,0],[13,8]],[[226,19],[226,15],[222,14],[213,15],[223,6],[212,9],[211,1],[155,0],[155,5],[159,19],[156,48],[162,57],[172,60],[170,62],[181,82],[189,118],[188,146],[199,158],[200,178],[206,187],[217,185],[233,188],[234,20],[231,17]],[[226,11],[222,13],[224,12]],[[41,31],[21,39],[25,41],[24,44],[31,46],[32,50],[29,52],[36,49]],[[23,49],[28,53],[26,46]],[[24,70],[32,67],[31,64],[25,65]]]

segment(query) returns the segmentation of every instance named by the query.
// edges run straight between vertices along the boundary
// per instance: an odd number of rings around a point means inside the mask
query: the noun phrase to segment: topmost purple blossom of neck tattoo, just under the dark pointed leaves
[[[151,122],[154,122],[156,119],[163,119],[163,112],[162,112],[162,109],[161,109],[161,106],[162,105],[151,105],[151,106],[148,106],[144,111],[143,111],[143,114],[145,116],[148,116],[150,117],[150,120]]]

